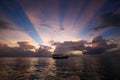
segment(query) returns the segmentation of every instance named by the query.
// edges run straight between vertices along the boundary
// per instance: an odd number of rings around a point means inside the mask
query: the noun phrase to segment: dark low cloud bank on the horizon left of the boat
[[[30,42],[18,42],[19,47],[10,47],[8,44],[0,41],[0,57],[50,57],[51,52],[44,48],[39,48],[35,52],[29,50],[35,47]]]

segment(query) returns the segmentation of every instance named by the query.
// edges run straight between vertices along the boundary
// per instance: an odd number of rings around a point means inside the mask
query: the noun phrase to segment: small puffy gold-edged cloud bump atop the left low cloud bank
[[[17,42],[22,49],[35,49],[35,46],[31,45],[28,41]]]

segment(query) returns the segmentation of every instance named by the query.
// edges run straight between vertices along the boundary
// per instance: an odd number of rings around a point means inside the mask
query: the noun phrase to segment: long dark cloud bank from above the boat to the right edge
[[[56,49],[54,50],[54,54],[69,54],[71,51],[76,51],[76,50],[79,51],[90,50],[91,53],[97,53],[97,52],[102,53],[107,49],[117,47],[117,45],[113,43],[108,45],[107,41],[103,39],[101,36],[96,36],[95,38],[93,38],[91,43],[85,40],[76,41],[76,42],[64,41],[63,43],[52,41],[52,43],[53,45],[56,46]],[[89,46],[89,44],[91,46]]]

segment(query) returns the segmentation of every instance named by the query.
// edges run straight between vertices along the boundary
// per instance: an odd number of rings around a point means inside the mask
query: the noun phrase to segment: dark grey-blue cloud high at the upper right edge
[[[101,30],[105,28],[120,28],[120,13],[109,12],[104,13],[99,17],[101,24],[97,27],[92,28],[91,30]]]

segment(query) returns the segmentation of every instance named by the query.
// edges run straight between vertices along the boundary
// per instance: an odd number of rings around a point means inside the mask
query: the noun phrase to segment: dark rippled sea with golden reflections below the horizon
[[[120,57],[0,58],[0,80],[120,80]]]

